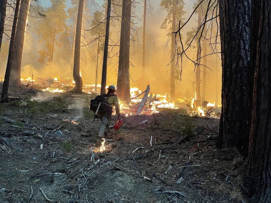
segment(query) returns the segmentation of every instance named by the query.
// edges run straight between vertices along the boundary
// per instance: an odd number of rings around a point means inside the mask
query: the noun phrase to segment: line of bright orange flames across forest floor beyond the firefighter
[[[52,77],[52,78],[56,82],[55,85],[50,84],[49,87],[41,89],[42,91],[49,91],[49,92],[52,92],[52,93],[55,93],[55,92],[62,93],[64,91],[67,91],[68,89],[72,88],[74,86],[74,83],[75,83],[74,81],[71,82],[70,78],[65,78],[65,82],[60,81],[59,80],[60,78],[58,76],[57,77]],[[25,79],[21,78],[21,81],[32,82],[32,77],[29,76],[29,77],[27,77]],[[34,78],[33,78],[33,81],[35,81]],[[39,82],[41,82],[41,81],[39,80],[38,83],[36,82],[36,84],[39,84]],[[63,87],[59,87],[59,85],[62,85],[64,87],[64,89],[63,89]],[[65,90],[65,87],[67,87],[67,90]],[[84,85],[83,86],[83,91],[87,92],[88,94],[93,94],[95,92],[94,87],[95,87],[95,84]],[[97,84],[97,87],[100,89],[101,84]],[[106,86],[106,88],[108,88],[108,86]],[[97,92],[100,92],[99,89],[97,90]],[[136,97],[141,93],[142,93],[142,91],[137,87],[130,88],[131,98]],[[151,93],[148,96],[150,96],[150,95],[151,95]],[[161,108],[179,109],[180,106],[183,106],[182,104],[186,104],[186,106],[188,106],[187,111],[188,111],[189,115],[195,115],[194,113],[196,113],[196,114],[198,114],[200,116],[205,116],[205,115],[210,116],[211,111],[209,112],[209,110],[212,107],[215,107],[215,106],[221,107],[221,105],[216,105],[215,102],[208,103],[205,108],[202,108],[202,106],[199,106],[200,105],[199,103],[197,104],[198,106],[195,106],[194,102],[195,102],[195,100],[197,100],[196,93],[195,93],[194,98],[190,98],[190,99],[189,98],[177,98],[176,102],[172,102],[172,101],[168,100],[168,95],[169,95],[168,93],[167,94],[155,94],[155,95],[156,95],[155,98],[157,98],[158,101],[155,100],[155,101],[152,101],[151,103],[147,102],[145,104],[143,110],[142,110],[142,114],[150,115],[152,113],[158,113]],[[128,104],[127,104],[127,102],[119,101],[120,109],[122,110],[122,112],[124,113],[124,115],[126,117],[128,115],[136,114],[137,108],[138,108],[139,103],[141,102],[143,96],[144,96],[144,94],[140,95],[139,97],[131,99],[128,102]],[[180,103],[182,103],[182,104],[180,104]],[[214,113],[212,113],[212,115],[215,115]],[[74,124],[76,124],[76,122]]]

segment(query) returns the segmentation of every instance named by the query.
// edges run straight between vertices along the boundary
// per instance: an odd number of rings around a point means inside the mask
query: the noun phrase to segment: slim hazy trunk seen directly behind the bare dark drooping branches
[[[198,27],[201,26],[201,14],[198,14]],[[196,67],[196,99],[201,101],[201,65],[200,65],[200,58],[201,58],[201,39],[200,33],[198,32],[197,36],[198,40],[198,52],[197,52],[197,67]]]

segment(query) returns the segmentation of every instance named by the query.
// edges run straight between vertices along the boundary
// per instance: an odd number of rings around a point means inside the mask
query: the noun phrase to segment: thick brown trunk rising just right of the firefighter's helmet
[[[123,0],[121,31],[120,31],[120,57],[117,79],[117,94],[121,100],[130,99],[130,32],[131,32],[131,0]]]

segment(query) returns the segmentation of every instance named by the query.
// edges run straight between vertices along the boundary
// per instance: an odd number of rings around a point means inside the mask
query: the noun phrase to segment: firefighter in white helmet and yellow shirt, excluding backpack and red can
[[[118,119],[120,119],[120,105],[116,92],[115,85],[110,85],[107,88],[108,92],[107,94],[104,94],[104,97],[107,97],[107,102],[109,105],[113,108],[115,106],[116,108],[116,114],[118,115]],[[102,137],[107,138],[108,133],[110,131],[109,128],[109,120],[111,119],[111,115],[107,115],[107,112],[102,112],[100,115],[101,119],[101,127],[98,134],[98,139],[96,140],[96,145],[100,146],[102,142]]]

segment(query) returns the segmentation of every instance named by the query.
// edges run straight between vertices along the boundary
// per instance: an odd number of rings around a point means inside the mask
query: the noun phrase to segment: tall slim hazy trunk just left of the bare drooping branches
[[[172,9],[172,28],[171,32],[176,31],[176,7],[177,0],[173,0]],[[171,35],[171,51],[170,51],[170,100],[175,100],[175,34]]]

